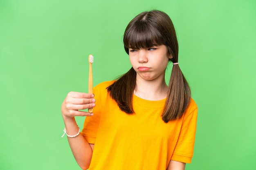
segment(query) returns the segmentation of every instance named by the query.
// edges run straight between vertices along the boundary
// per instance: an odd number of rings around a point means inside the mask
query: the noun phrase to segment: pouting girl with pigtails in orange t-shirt
[[[173,23],[162,11],[137,15],[124,33],[132,68],[94,94],[70,92],[61,112],[82,169],[184,170],[191,162],[197,106],[178,63]],[[169,85],[168,62],[173,63]],[[92,108],[93,113],[79,111]],[[75,116],[87,116],[80,133]]]

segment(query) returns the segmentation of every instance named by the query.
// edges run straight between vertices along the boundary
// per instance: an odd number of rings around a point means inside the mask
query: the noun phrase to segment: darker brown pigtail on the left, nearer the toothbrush
[[[136,85],[136,72],[131,68],[112,85],[107,87],[110,97],[113,98],[121,111],[132,114],[132,95]]]

